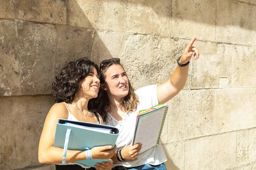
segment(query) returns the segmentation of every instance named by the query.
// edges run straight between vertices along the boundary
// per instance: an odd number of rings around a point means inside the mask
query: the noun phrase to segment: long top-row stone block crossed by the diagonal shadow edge
[[[171,36],[170,0],[70,0],[69,23],[111,31]]]

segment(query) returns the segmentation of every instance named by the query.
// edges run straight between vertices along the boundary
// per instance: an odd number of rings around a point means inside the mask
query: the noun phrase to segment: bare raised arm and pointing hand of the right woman
[[[179,60],[180,64],[186,64],[190,61],[192,56],[194,56],[195,59],[199,58],[198,49],[193,47],[195,40],[196,37],[193,38],[193,40],[186,46]],[[177,68],[173,72],[171,79],[157,86],[157,97],[159,103],[168,102],[183,89],[184,85],[186,84],[188,72],[189,65],[186,65],[185,67],[180,67],[180,65],[177,65]]]

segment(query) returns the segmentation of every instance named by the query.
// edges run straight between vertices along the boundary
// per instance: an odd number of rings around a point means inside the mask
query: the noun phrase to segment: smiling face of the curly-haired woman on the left
[[[87,99],[96,98],[99,92],[99,75],[95,67],[81,82],[79,92],[82,93]]]

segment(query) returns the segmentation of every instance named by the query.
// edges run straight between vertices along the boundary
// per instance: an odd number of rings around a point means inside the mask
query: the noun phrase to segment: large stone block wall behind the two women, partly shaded
[[[70,60],[118,57],[134,88],[167,81],[198,37],[168,102],[168,170],[256,169],[256,0],[0,0],[0,170],[38,162],[51,82]]]

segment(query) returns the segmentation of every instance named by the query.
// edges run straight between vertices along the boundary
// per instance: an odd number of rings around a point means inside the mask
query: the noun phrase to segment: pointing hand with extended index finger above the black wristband
[[[180,61],[180,64],[186,64],[187,62],[190,61],[191,57],[194,56],[195,60],[199,59],[199,51],[196,47],[193,47],[193,44],[196,40],[196,37],[193,38],[193,40],[191,42],[189,42],[189,44],[186,46],[185,50],[183,51]],[[194,53],[194,55],[193,55]]]

